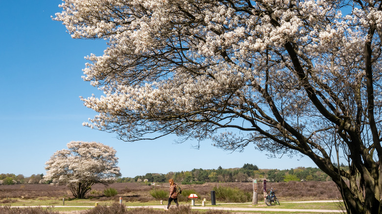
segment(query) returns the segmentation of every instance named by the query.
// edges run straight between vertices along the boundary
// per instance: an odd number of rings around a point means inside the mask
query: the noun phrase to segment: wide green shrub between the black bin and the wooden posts
[[[251,201],[251,193],[244,192],[239,188],[230,188],[230,187],[214,187],[216,199],[233,202],[233,203],[244,203]]]

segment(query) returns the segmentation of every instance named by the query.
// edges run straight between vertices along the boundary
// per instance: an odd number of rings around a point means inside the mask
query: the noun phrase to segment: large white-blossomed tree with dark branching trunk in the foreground
[[[381,0],[63,1],[72,38],[108,42],[86,126],[306,155],[348,213],[382,213]]]

